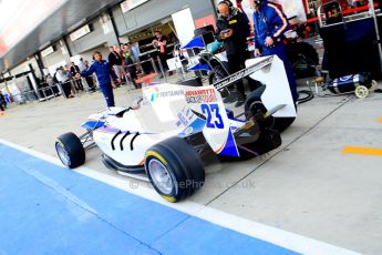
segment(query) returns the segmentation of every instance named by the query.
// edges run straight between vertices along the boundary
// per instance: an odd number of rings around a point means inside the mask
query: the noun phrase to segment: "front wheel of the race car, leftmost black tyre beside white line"
[[[75,169],[85,163],[85,150],[74,133],[60,135],[55,142],[55,151],[61,162],[69,169]]]

